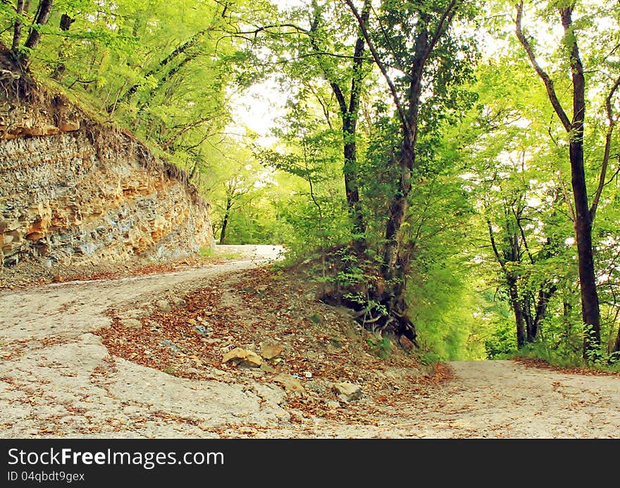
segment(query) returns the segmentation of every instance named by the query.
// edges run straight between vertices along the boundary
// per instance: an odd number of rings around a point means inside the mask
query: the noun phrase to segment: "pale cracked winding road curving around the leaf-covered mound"
[[[279,249],[234,250],[244,256],[177,273],[1,292],[0,437],[620,437],[619,375],[453,362],[451,380],[369,411],[372,422],[293,421],[276,384],[174,377],[111,356],[94,334],[111,306],[139,313]]]

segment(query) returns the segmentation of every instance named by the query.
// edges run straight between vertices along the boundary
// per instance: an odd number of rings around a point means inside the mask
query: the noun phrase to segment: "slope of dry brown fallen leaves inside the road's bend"
[[[97,334],[114,356],[178,377],[236,382],[250,377],[271,383],[276,374],[288,373],[306,388],[306,394],[287,397],[293,423],[314,415],[373,424],[373,415],[410,403],[413,396],[452,377],[442,364],[427,375],[416,369],[396,379],[384,375],[393,368],[423,367],[397,346],[387,359],[376,356],[371,343],[376,337],[344,311],[314,299],[314,285],[303,277],[257,268],[222,281],[212,280],[186,294],[185,305],[173,306],[168,313],[157,310],[142,318],[140,329],[125,327],[120,311],[111,310],[111,327]],[[285,346],[279,361],[268,361],[275,371],[221,363],[225,351],[233,347],[259,352],[266,343]],[[214,374],[213,368],[225,375]],[[365,398],[348,403],[338,399],[330,384],[342,381],[359,384]],[[340,408],[326,405],[336,400],[342,403]]]

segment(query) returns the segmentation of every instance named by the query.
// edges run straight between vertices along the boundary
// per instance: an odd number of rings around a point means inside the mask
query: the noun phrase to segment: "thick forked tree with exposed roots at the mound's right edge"
[[[414,324],[408,317],[406,283],[411,247],[404,239],[403,224],[409,207],[416,156],[421,132],[432,132],[450,108],[463,101],[454,89],[471,75],[473,50],[457,45],[452,23],[457,13],[471,11],[464,2],[433,1],[399,4],[383,1],[371,30],[353,0],[345,0],[357,20],[361,33],[380,72],[387,82],[395,107],[400,134],[385,165],[395,170],[395,187],[387,204],[381,282],[373,290],[378,304],[373,318],[380,328],[393,330],[415,340]],[[457,56],[457,54],[460,55]],[[392,77],[390,69],[398,73]],[[423,101],[423,95],[429,101]],[[430,111],[444,110],[433,120]]]

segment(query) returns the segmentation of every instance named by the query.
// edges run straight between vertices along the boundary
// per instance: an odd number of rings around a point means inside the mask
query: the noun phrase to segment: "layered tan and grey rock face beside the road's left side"
[[[1,75],[4,266],[172,258],[211,244],[209,205],[178,168],[66,98]]]

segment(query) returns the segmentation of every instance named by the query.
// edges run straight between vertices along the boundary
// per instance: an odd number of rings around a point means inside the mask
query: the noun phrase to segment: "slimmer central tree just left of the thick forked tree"
[[[364,1],[361,9],[363,20],[368,20],[370,9],[371,2]],[[235,35],[254,35],[252,39],[246,37],[253,46],[268,46],[277,61],[263,63],[263,70],[273,70],[268,68],[273,62],[277,71],[283,70],[289,80],[311,91],[331,125],[329,114],[333,100],[322,99],[318,93],[321,83],[327,82],[340,115],[342,175],[352,242],[356,251],[362,253],[366,246],[366,223],[360,201],[357,129],[364,82],[371,73],[371,60],[366,58],[364,37],[346,14],[338,2],[311,0],[303,8],[292,8],[284,19]],[[262,42],[256,37],[259,34],[263,37]]]

